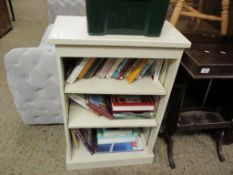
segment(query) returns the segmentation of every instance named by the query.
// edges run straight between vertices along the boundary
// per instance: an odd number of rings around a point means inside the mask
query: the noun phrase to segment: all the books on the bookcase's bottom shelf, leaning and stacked
[[[84,145],[90,154],[142,151],[144,145],[137,129],[72,129],[75,147]]]

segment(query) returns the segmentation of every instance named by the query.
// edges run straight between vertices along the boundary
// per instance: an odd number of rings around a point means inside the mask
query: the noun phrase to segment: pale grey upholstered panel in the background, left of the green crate
[[[57,15],[85,16],[85,0],[48,0],[49,23],[54,23]]]

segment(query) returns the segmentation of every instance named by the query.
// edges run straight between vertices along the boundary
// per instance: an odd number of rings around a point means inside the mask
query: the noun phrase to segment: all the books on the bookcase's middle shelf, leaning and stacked
[[[158,96],[151,95],[79,95],[69,94],[77,105],[108,119],[154,117]]]

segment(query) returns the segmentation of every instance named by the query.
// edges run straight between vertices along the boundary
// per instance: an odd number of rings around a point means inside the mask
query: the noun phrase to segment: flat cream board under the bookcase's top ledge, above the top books
[[[182,52],[177,48],[153,47],[108,47],[108,46],[57,46],[58,54],[63,57],[130,57],[178,59]],[[64,55],[65,53],[65,55]],[[95,55],[93,55],[95,54]]]

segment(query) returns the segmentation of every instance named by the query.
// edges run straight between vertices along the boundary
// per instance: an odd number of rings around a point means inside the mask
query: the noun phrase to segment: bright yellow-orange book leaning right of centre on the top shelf
[[[142,71],[146,62],[147,62],[147,59],[142,59],[142,60],[137,61],[135,67],[130,71],[130,73],[126,77],[126,80],[128,81],[128,83],[134,82],[134,80],[137,78],[137,76]]]

